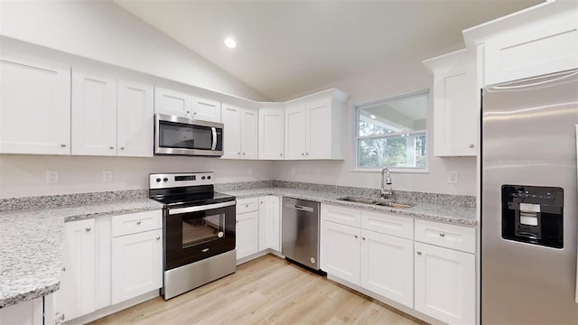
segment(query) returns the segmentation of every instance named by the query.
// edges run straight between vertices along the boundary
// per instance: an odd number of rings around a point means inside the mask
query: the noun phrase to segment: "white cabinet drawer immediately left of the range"
[[[163,228],[163,211],[154,210],[115,216],[111,223],[112,237],[160,229]]]

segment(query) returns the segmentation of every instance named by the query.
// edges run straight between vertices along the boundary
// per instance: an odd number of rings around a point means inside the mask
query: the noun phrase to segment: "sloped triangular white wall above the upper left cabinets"
[[[0,1],[0,34],[191,86],[268,99],[108,1]]]

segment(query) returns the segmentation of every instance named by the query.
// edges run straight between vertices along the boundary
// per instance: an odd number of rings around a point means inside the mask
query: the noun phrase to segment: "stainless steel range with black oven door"
[[[149,197],[164,204],[164,300],[235,273],[236,200],[213,172],[150,174]]]

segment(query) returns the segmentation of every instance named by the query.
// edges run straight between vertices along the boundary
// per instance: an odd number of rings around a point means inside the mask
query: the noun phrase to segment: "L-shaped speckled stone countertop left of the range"
[[[162,208],[154,200],[133,199],[0,211],[0,308],[59,289],[64,222]]]

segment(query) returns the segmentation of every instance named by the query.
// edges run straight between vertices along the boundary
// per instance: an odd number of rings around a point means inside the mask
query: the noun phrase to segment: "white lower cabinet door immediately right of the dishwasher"
[[[322,221],[322,270],[359,285],[359,228]]]

